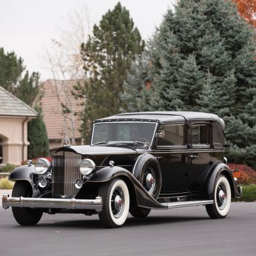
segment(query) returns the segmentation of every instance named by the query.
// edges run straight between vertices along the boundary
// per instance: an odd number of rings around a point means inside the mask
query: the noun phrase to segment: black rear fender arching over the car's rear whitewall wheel
[[[232,197],[240,198],[241,193],[240,191],[238,191],[238,188],[236,187],[236,182],[234,181],[232,172],[228,165],[225,165],[222,162],[215,163],[215,165],[213,165],[213,168],[210,170],[209,175],[207,176],[205,185],[203,186],[203,190],[205,190],[207,196],[209,196],[211,199],[214,199],[215,181],[216,178],[221,174],[223,174],[226,177],[226,179],[228,179]]]

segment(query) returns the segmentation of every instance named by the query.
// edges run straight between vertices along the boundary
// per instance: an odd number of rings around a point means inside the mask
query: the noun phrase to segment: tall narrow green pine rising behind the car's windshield
[[[85,111],[83,113],[83,137],[88,141],[91,121],[110,116],[125,106],[120,100],[122,84],[131,61],[144,49],[144,41],[135,28],[129,11],[117,3],[114,10],[106,12],[98,26],[94,26],[93,35],[87,43],[81,45],[81,54],[85,62],[87,81],[83,89],[75,94],[85,93]]]

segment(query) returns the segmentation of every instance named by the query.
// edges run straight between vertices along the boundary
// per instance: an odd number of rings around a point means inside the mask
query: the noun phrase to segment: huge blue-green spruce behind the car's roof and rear
[[[131,70],[123,95],[137,98],[133,111],[219,114],[232,144],[228,158],[255,167],[255,52],[255,32],[231,1],[181,0],[148,43],[152,66]]]

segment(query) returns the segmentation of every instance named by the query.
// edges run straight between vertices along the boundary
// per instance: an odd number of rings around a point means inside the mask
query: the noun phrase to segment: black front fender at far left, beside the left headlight
[[[15,168],[9,176],[9,181],[28,181],[32,186],[33,193],[35,192],[35,187],[33,184],[33,176],[37,175],[35,172],[35,165],[22,165]]]

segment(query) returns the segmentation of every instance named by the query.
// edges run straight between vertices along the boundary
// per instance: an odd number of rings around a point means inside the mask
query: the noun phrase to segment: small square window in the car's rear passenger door
[[[208,146],[209,145],[209,125],[200,124],[192,125],[191,129],[191,143],[194,146]]]

